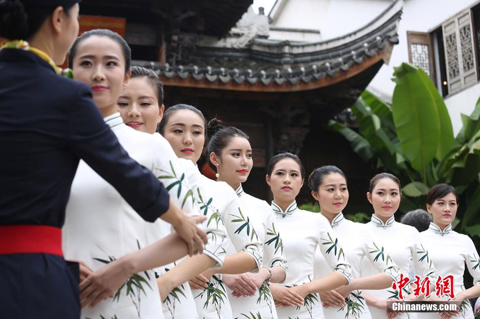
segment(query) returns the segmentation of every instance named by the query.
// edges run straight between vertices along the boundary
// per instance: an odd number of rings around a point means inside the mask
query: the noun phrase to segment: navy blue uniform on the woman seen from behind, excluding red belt
[[[118,143],[90,88],[25,50],[0,50],[0,147],[0,226],[62,227],[79,159],[143,219],[169,208],[163,185]],[[78,318],[77,271],[60,256],[0,255],[0,317]]]

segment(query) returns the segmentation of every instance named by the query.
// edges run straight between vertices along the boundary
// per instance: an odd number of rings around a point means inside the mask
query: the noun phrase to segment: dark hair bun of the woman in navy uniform
[[[13,40],[28,35],[28,16],[19,0],[0,0],[0,36]]]

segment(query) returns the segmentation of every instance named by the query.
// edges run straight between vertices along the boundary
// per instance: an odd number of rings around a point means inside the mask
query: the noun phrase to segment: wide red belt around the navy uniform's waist
[[[62,252],[62,229],[45,225],[0,226],[0,255]]]

